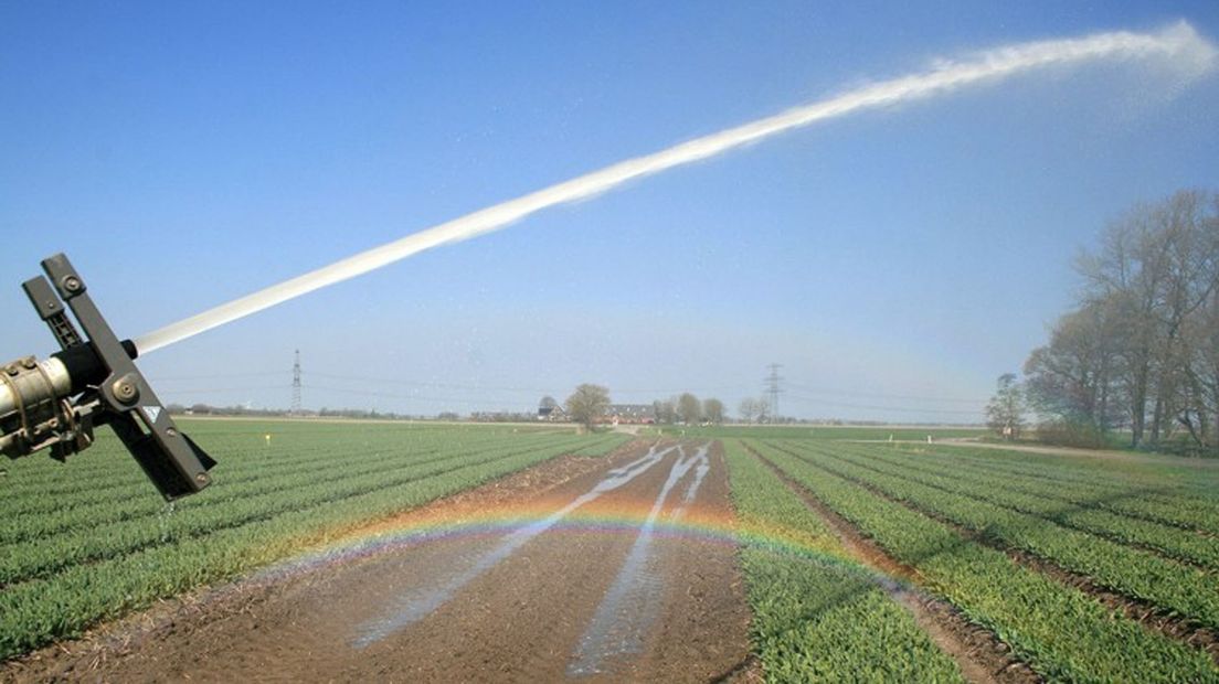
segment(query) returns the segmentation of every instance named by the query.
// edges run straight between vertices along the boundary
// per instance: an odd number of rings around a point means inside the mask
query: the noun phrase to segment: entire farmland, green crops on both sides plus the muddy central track
[[[226,458],[173,510],[117,450],[10,469],[6,657],[194,592],[0,677],[1219,680],[1207,464],[833,430],[187,428]]]

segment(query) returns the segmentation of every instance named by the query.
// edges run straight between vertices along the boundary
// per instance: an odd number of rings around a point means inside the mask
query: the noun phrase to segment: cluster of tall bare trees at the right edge
[[[1134,447],[1219,452],[1219,195],[1136,207],[1076,269],[1075,308],[1024,366],[1032,410],[1076,442],[1120,427]]]

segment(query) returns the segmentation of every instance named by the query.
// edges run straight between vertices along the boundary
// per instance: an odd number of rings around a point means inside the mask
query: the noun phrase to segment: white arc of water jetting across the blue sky
[[[967,61],[944,61],[925,72],[865,85],[828,100],[681,142],[652,155],[627,159],[523,197],[421,230],[401,240],[361,252],[149,332],[139,337],[135,346],[141,354],[146,354],[313,290],[405,259],[424,250],[499,230],[547,207],[585,200],[629,180],[706,159],[816,122],[861,110],[946,94],[967,85],[995,82],[1022,72],[1056,65],[1151,58],[1167,60],[1174,67],[1180,68],[1184,75],[1196,77],[1214,68],[1217,50],[1210,43],[1202,39],[1189,23],[1180,22],[1158,33],[1115,32],[1075,39],[1022,43],[989,50]]]

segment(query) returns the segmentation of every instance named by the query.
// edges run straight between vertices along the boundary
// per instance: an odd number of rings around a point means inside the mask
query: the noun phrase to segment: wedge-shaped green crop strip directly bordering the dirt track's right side
[[[755,650],[774,682],[963,682],[956,663],[761,461],[727,444]]]

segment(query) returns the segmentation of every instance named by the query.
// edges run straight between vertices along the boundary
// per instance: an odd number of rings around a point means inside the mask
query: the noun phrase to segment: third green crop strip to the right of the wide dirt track
[[[858,465],[809,444],[801,456],[835,475],[947,518],[997,544],[1029,551],[1126,596],[1219,627],[1219,583],[1208,573],[1156,554],[1056,525],[964,494]]]

